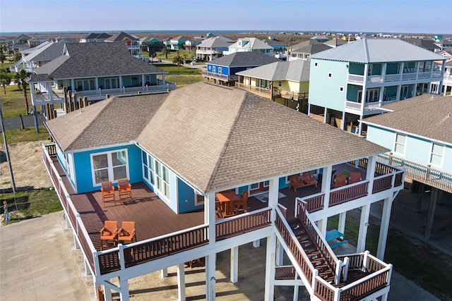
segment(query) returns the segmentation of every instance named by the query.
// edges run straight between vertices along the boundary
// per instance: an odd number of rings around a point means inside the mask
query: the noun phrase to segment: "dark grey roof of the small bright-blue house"
[[[268,54],[263,54],[262,52],[234,52],[233,54],[228,54],[227,56],[222,56],[218,59],[208,62],[208,65],[215,66],[225,66],[225,67],[256,67],[266,65],[268,63],[274,63],[275,61],[280,61],[274,56]]]

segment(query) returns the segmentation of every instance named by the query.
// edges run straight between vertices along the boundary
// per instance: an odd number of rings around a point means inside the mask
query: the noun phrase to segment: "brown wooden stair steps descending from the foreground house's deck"
[[[319,276],[328,283],[334,283],[334,271],[330,262],[323,256],[319,245],[313,240],[304,226],[300,226],[295,230],[295,235],[304,252],[307,254],[309,261],[315,269],[319,271]]]

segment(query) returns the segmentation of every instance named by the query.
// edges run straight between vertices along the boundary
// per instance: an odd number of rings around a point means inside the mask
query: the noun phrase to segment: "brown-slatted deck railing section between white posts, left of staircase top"
[[[271,209],[264,208],[240,214],[230,219],[223,219],[215,223],[215,240],[225,240],[250,231],[264,228],[271,225]]]

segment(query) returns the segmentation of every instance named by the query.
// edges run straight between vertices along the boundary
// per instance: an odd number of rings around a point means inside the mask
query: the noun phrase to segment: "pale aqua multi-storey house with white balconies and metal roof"
[[[400,39],[364,38],[311,56],[309,114],[343,130],[380,106],[441,91],[443,56]],[[438,83],[438,85],[436,85]],[[362,128],[359,128],[362,131]]]

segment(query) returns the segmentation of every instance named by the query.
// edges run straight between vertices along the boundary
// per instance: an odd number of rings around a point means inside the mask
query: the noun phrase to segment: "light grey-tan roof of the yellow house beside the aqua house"
[[[308,82],[311,63],[304,60],[278,61],[264,66],[237,72],[237,75],[260,78],[262,80],[291,80]]]

